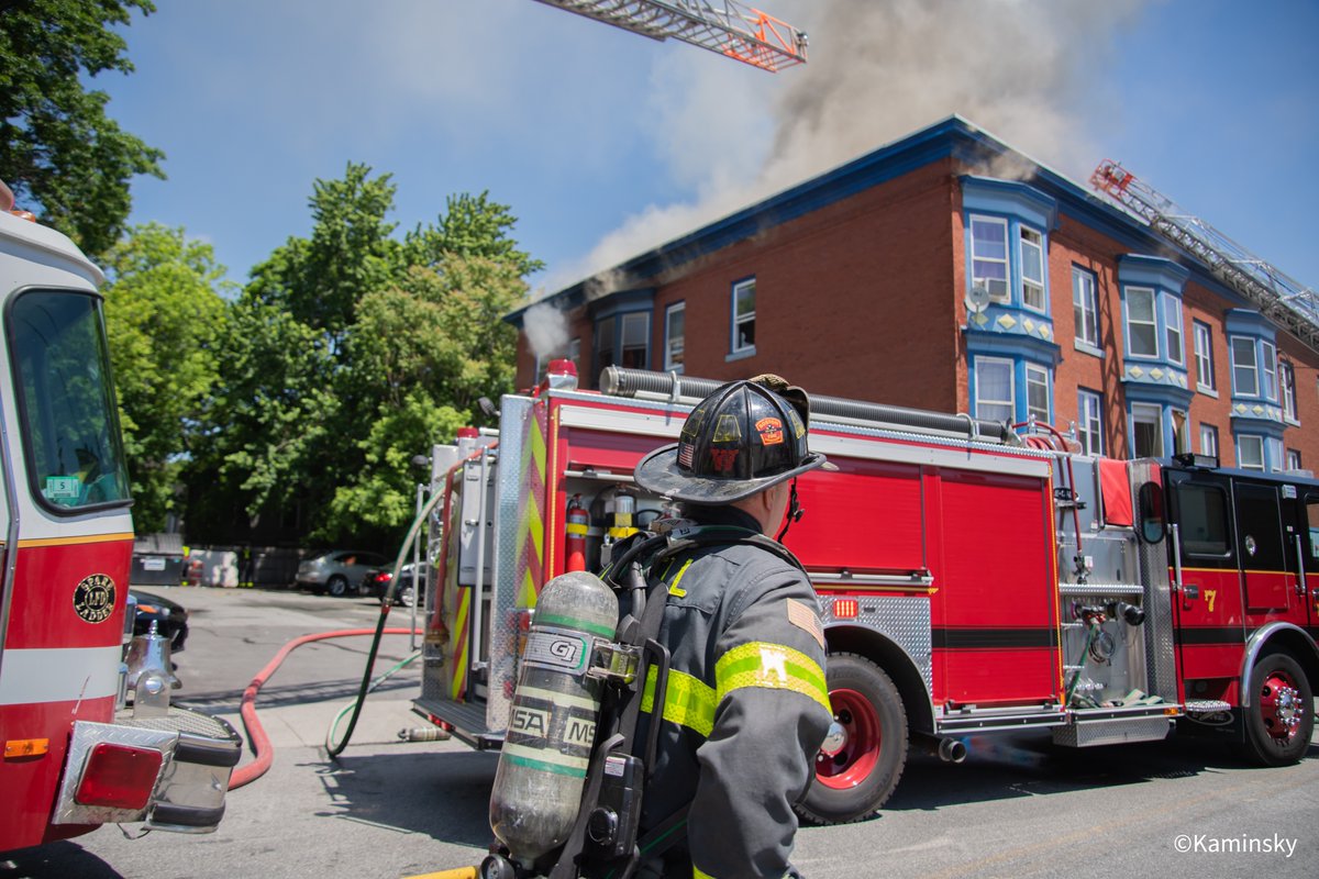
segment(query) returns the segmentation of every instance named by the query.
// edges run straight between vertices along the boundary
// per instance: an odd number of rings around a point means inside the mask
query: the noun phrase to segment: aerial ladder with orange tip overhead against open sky
[[[538,0],[642,37],[669,37],[777,72],[806,63],[806,34],[735,0]]]

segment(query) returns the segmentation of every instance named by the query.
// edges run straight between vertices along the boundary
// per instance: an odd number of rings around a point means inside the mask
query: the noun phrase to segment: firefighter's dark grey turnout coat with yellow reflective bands
[[[758,532],[735,507],[686,513]],[[690,804],[666,876],[778,879],[790,870],[793,805],[832,720],[815,593],[787,559],[748,543],[699,547],[650,575],[667,592],[660,642],[671,667],[641,830]],[[653,691],[652,673],[638,741]]]

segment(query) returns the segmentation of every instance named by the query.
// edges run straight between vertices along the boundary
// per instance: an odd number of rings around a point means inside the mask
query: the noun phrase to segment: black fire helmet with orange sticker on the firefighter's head
[[[806,445],[809,418],[806,393],[777,376],[721,385],[691,410],[675,444],[641,459],[637,485],[687,503],[751,497],[826,465]]]

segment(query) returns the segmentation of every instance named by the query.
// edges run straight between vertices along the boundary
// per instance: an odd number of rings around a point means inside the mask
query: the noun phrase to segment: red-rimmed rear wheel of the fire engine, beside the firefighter
[[[893,680],[856,654],[828,658],[828,698],[845,741],[815,759],[815,780],[797,813],[811,824],[847,824],[884,805],[906,764],[906,710]]]

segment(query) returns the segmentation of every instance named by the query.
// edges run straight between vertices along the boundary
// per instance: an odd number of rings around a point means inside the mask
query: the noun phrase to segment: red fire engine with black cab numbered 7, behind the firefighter
[[[500,746],[542,584],[666,513],[632,469],[716,385],[609,368],[587,393],[557,361],[503,398],[499,431],[437,447],[417,713]],[[958,760],[971,734],[1088,747],[1177,726],[1265,764],[1304,752],[1319,481],[1096,459],[1024,427],[813,398],[811,448],[839,469],[801,477],[787,543],[819,596],[836,723],[805,817],[878,808],[909,742]]]

